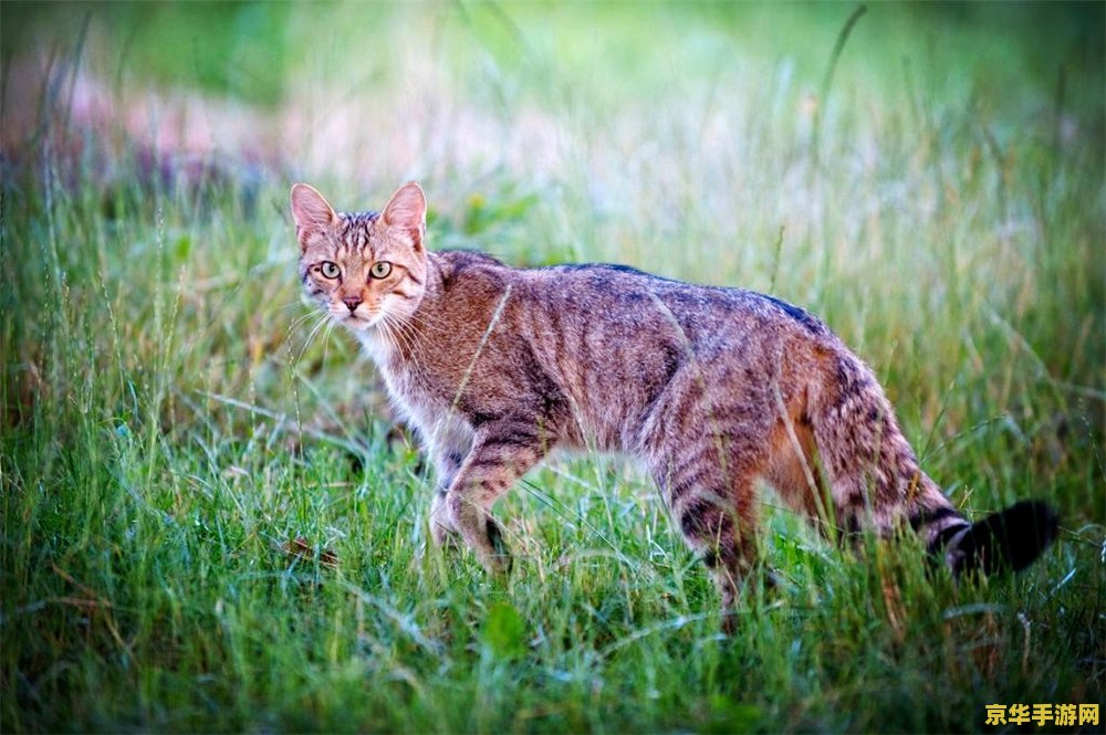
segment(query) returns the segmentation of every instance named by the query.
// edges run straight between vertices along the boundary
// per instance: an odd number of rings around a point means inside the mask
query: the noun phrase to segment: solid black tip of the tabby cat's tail
[[[973,523],[956,548],[953,571],[1021,571],[1056,538],[1060,516],[1047,503],[1022,501]]]

